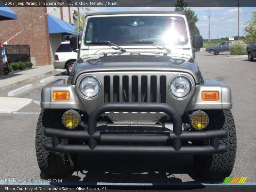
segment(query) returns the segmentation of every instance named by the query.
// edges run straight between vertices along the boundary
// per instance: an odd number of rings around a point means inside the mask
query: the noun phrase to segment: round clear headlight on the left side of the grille
[[[80,82],[80,91],[85,97],[95,97],[100,92],[99,80],[92,76],[85,77]]]

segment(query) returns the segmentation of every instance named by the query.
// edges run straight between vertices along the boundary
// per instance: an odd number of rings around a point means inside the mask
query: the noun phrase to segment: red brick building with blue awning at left
[[[11,9],[17,13],[17,20],[0,22],[1,42],[4,43],[24,29],[7,44],[29,45],[31,62],[36,66],[52,64],[55,52],[60,43],[64,41],[64,36],[76,34],[74,29],[77,25],[77,18],[73,17],[73,13],[79,12],[77,7],[60,7],[38,20],[52,8],[12,7]],[[33,21],[36,22],[27,27]]]

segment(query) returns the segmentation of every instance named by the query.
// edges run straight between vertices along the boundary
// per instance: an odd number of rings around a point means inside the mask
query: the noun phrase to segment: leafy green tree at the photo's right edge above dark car
[[[249,44],[256,39],[256,11],[253,12],[252,20],[247,21],[245,25],[247,26],[244,28],[244,42]]]

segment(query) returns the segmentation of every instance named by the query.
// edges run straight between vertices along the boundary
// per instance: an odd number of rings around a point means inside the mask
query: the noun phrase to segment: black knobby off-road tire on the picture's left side
[[[51,137],[44,135],[44,129],[64,128],[61,123],[63,111],[43,109],[39,115],[36,127],[36,158],[40,170],[49,176],[68,176],[74,171],[73,161],[70,165],[70,156],[65,153],[47,151],[44,144],[51,141]],[[61,143],[68,144],[68,140],[61,139]]]

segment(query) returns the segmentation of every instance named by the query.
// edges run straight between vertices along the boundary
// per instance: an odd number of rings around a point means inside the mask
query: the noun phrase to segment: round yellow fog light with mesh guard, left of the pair
[[[75,129],[81,122],[81,116],[78,112],[70,109],[62,115],[62,123],[68,129]]]

